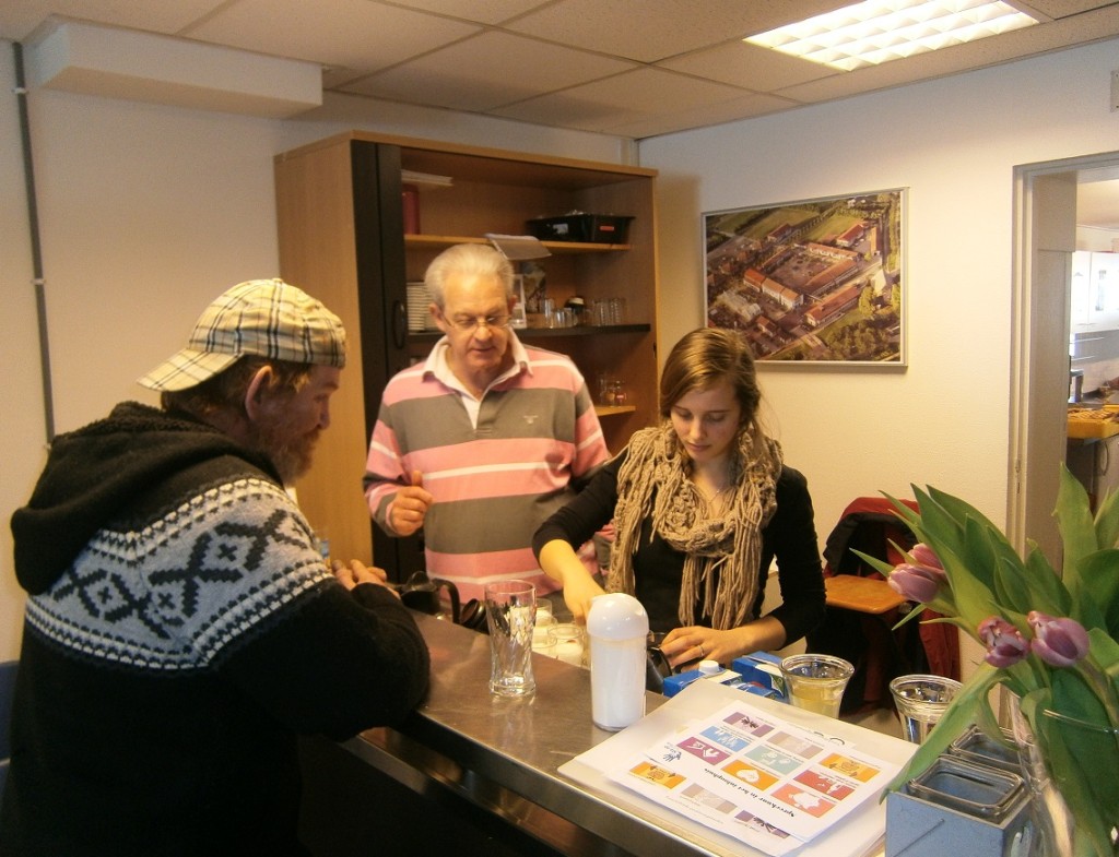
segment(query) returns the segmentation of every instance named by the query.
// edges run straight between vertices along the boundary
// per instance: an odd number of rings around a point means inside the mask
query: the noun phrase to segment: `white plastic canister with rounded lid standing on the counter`
[[[649,616],[624,592],[591,601],[586,616],[591,640],[591,718],[617,732],[645,716],[646,642]]]

